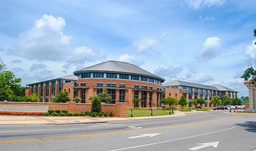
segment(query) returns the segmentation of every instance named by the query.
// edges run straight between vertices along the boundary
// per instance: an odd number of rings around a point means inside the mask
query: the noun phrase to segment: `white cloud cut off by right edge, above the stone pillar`
[[[256,62],[256,39],[254,39],[251,45],[247,45],[246,49],[244,50],[244,56],[247,57],[245,63],[248,66],[252,66]]]

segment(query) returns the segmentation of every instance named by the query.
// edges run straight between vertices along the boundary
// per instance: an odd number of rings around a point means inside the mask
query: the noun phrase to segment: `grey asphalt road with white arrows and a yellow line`
[[[195,112],[177,118],[2,126],[0,150],[253,150],[256,114]]]

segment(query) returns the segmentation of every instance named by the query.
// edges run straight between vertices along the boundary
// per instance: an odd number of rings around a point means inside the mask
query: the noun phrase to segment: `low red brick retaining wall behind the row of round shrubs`
[[[31,103],[31,102],[0,102],[0,105],[48,105],[49,110],[68,110],[71,113],[81,111],[91,111],[92,104],[77,104],[75,102],[67,102],[67,103]],[[116,104],[101,104],[101,110],[103,112],[112,112],[114,117],[127,117],[126,103],[116,103]]]

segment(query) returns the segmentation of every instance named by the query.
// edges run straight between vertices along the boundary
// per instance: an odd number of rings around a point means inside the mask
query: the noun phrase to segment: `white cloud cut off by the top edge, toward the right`
[[[225,0],[186,0],[188,6],[195,10],[200,9],[204,6],[211,7],[213,5],[222,6],[226,3]]]

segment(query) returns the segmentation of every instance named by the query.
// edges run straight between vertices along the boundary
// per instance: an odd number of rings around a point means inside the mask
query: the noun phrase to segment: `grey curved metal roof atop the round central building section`
[[[105,61],[87,68],[83,68],[73,73],[77,75],[78,73],[86,73],[86,72],[110,72],[110,73],[121,73],[121,74],[133,74],[133,75],[141,75],[145,77],[151,77],[161,80],[162,82],[165,79],[158,77],[157,75],[148,72],[136,65],[120,62],[120,61]]]

